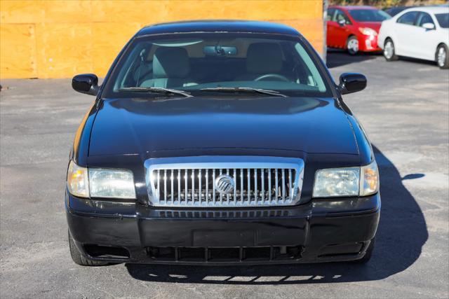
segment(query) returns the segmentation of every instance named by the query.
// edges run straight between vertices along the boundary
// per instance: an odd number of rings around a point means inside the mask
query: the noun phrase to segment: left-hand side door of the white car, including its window
[[[416,57],[417,51],[413,48],[413,45],[415,45],[415,34],[419,31],[419,28],[415,26],[419,14],[419,11],[409,11],[401,15],[396,21],[394,28],[396,39],[393,42],[397,55]]]

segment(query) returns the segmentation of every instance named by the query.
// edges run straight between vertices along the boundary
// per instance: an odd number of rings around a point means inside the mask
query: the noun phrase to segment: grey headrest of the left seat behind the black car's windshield
[[[185,48],[157,48],[153,57],[153,78],[185,78],[190,71]]]

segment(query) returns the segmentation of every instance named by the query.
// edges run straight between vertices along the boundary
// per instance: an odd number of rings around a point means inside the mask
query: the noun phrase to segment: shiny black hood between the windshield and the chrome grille
[[[358,154],[346,114],[330,98],[105,99],[89,156],[254,148]],[[197,150],[197,152],[196,152]]]

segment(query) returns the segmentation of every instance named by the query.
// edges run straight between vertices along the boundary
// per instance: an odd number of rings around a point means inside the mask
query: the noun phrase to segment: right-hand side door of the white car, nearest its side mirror
[[[424,24],[434,25],[434,29],[426,29]],[[415,48],[417,58],[424,60],[435,60],[436,44],[438,41],[438,33],[436,32],[436,25],[429,13],[422,11],[417,17],[416,21],[416,37],[413,40],[413,47]]]

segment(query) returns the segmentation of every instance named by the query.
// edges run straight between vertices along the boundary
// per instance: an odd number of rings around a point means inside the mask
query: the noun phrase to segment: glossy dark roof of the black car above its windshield
[[[251,32],[300,36],[296,29],[287,25],[245,20],[194,20],[160,23],[140,29],[136,35],[186,32]]]

